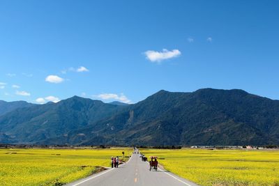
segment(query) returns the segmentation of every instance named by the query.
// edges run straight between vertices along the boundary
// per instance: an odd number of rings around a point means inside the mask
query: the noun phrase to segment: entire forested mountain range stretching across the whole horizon
[[[5,106],[2,106],[5,105]],[[0,143],[59,145],[279,144],[279,101],[246,91],[158,91],[136,104],[74,96],[0,102]]]

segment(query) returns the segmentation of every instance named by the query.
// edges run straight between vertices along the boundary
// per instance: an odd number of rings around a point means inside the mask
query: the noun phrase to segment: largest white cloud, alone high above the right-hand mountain
[[[160,63],[160,61],[165,59],[172,59],[174,57],[180,56],[181,52],[178,49],[173,49],[172,51],[163,49],[163,52],[148,50],[144,52],[144,54],[146,55],[146,59],[149,59],[149,61]]]

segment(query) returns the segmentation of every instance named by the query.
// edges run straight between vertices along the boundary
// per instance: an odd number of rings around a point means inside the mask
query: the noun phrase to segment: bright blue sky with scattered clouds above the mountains
[[[138,102],[209,87],[279,100],[278,10],[278,1],[0,1],[0,100]]]

